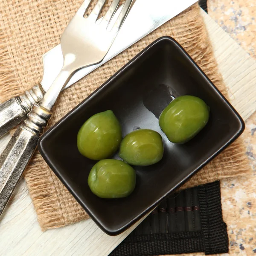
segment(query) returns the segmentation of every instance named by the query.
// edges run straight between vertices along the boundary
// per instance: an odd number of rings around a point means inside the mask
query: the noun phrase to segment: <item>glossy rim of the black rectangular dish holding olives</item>
[[[106,227],[104,224],[101,223],[101,221],[94,216],[94,214],[90,211],[90,209],[79,199],[79,197],[76,195],[76,193],[71,189],[71,187],[68,185],[67,181],[62,177],[61,173],[58,171],[57,168],[52,164],[52,161],[49,159],[47,152],[44,150],[44,140],[49,136],[49,134],[52,134],[52,132],[55,132],[56,129],[62,125],[62,122],[64,122],[65,119],[67,119],[69,116],[71,116],[76,110],[79,108],[83,108],[84,105],[86,105],[86,102],[95,97],[97,94],[100,93],[103,87],[108,86],[112,81],[116,79],[121,73],[125,72],[125,70],[130,67],[137,59],[139,59],[141,56],[145,55],[148,50],[150,50],[152,47],[154,47],[156,44],[159,44],[161,41],[169,41],[172,44],[175,44],[175,47],[177,47],[180,52],[184,54],[186,59],[190,62],[190,64],[194,65],[195,68],[198,70],[198,73],[201,73],[203,78],[208,82],[209,86],[211,86],[215,92],[221,97],[222,100],[227,104],[227,107],[233,111],[234,115],[236,116],[238,122],[239,122],[239,128],[236,131],[235,134],[230,138],[230,140],[227,141],[221,148],[219,148],[214,154],[212,154],[210,157],[208,157],[204,162],[199,165],[197,168],[193,169],[192,172],[189,173],[183,180],[181,180],[179,183],[177,183],[176,186],[174,186],[172,189],[170,189],[165,195],[163,195],[161,198],[159,198],[157,201],[155,201],[153,204],[151,204],[150,207],[145,209],[143,212],[141,212],[137,217],[130,220],[128,223],[120,227],[119,229],[111,229]],[[47,165],[52,169],[52,171],[55,173],[55,175],[58,177],[59,180],[64,184],[64,186],[68,189],[68,191],[73,195],[73,197],[78,201],[78,203],[81,205],[81,207],[87,212],[87,214],[93,219],[93,221],[108,235],[110,236],[116,236],[125,230],[127,230],[129,227],[131,227],[134,223],[139,221],[143,216],[148,214],[151,210],[153,210],[160,202],[165,199],[168,195],[170,195],[172,192],[174,192],[176,189],[178,189],[180,186],[182,186],[187,180],[189,180],[193,175],[195,175],[200,169],[202,169],[204,166],[207,165],[213,158],[215,158],[218,154],[220,154],[227,146],[229,146],[233,141],[235,141],[244,131],[245,124],[244,120],[241,118],[239,113],[236,111],[236,109],[230,104],[230,102],[227,101],[227,99],[223,96],[223,94],[218,90],[218,88],[212,83],[212,81],[207,77],[207,75],[204,73],[203,70],[198,66],[198,64],[195,63],[195,61],[190,57],[190,55],[186,52],[186,50],[172,37],[170,36],[163,36],[160,38],[157,38],[154,42],[149,44],[147,47],[145,47],[141,52],[139,52],[134,58],[132,58],[127,64],[125,64],[123,67],[121,67],[116,73],[114,73],[107,81],[105,81],[101,86],[99,86],[93,93],[91,93],[89,96],[87,96],[82,102],[80,102],[78,105],[76,105],[75,108],[73,108],[71,111],[69,111],[65,116],[63,116],[58,122],[56,122],[51,128],[49,128],[48,131],[46,131],[38,140],[38,149],[41,153],[41,156],[46,161]]]

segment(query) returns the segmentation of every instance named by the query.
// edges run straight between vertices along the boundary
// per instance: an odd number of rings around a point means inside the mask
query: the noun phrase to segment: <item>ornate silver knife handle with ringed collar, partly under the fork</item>
[[[40,102],[43,96],[44,89],[38,84],[20,96],[0,104],[0,137],[22,122],[32,105]]]

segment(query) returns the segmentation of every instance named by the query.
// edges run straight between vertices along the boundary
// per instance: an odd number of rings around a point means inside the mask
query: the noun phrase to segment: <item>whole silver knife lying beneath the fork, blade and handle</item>
[[[148,3],[149,1],[150,3]],[[127,19],[122,25],[119,34],[105,58],[98,64],[77,71],[64,89],[74,84],[97,67],[100,67],[195,2],[197,2],[197,0],[135,1],[134,6],[131,8]],[[63,66],[60,44],[43,55],[43,63],[44,76],[40,84],[35,85],[22,95],[9,99],[0,105],[0,137],[26,118],[26,114],[29,113],[31,106],[42,99],[44,93],[55,80]]]

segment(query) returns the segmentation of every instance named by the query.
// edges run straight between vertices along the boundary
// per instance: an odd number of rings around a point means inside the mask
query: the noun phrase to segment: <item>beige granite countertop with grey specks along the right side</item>
[[[208,0],[208,13],[256,59],[256,0]],[[242,136],[253,171],[248,177],[221,181],[223,218],[230,241],[230,252],[222,256],[256,255],[256,112],[246,120]]]

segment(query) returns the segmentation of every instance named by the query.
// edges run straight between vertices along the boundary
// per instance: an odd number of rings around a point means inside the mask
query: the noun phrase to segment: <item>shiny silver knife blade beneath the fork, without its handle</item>
[[[151,4],[149,4],[148,0],[135,1],[129,12],[129,16],[125,20],[116,40],[105,58],[98,64],[84,67],[76,72],[64,89],[70,87],[70,85],[100,67],[102,64],[106,63],[195,2],[197,1],[151,0]],[[44,76],[41,85],[44,90],[47,91],[63,65],[60,44],[43,55],[43,63]]]

